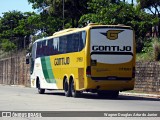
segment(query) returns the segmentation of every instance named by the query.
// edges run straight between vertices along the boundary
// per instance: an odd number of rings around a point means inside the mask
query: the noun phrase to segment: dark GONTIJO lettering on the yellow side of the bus
[[[70,58],[66,57],[66,58],[55,58],[54,59],[54,65],[69,65],[70,63]]]

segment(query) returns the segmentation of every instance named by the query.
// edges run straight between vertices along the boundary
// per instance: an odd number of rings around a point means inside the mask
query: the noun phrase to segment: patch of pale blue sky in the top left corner
[[[32,12],[32,5],[28,3],[28,0],[1,0],[0,1],[0,17],[3,16],[3,12],[9,11],[21,11],[21,12]]]

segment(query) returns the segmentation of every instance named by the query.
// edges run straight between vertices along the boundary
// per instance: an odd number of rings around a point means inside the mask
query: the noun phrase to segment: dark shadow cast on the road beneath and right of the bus
[[[64,92],[46,92],[44,95],[56,95],[65,97]],[[79,96],[78,99],[160,101],[159,98],[128,96],[128,95],[119,95],[117,99],[100,98],[95,93],[83,93],[82,95]]]

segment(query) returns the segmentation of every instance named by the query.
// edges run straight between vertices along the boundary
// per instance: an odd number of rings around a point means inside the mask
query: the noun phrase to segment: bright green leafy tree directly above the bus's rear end
[[[156,21],[150,14],[123,2],[110,4],[104,0],[96,0],[88,4],[88,8],[92,13],[85,14],[80,18],[79,22],[81,25],[91,21],[100,24],[132,26],[136,33],[137,51],[141,51],[143,47],[142,38],[145,38],[146,33],[150,30],[154,21]]]

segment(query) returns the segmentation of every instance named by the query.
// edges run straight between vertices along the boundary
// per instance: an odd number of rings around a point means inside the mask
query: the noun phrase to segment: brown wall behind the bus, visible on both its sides
[[[13,57],[14,56],[14,57]],[[0,60],[0,84],[30,86],[29,65],[25,64],[25,53],[12,54]],[[160,63],[137,62],[135,90],[160,94]]]

